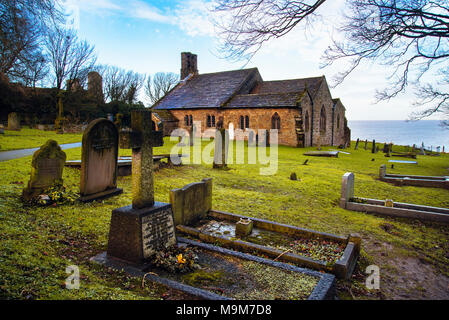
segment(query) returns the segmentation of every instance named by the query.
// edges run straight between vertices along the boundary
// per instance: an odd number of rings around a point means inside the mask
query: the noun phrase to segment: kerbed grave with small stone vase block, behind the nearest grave
[[[241,236],[238,224],[248,220],[252,222],[252,230],[249,235]],[[176,231],[202,242],[219,243],[229,249],[332,273],[342,279],[350,278],[361,245],[358,235],[343,237],[217,210],[210,210],[205,218],[190,226],[177,225]],[[300,251],[304,248],[309,251]]]

